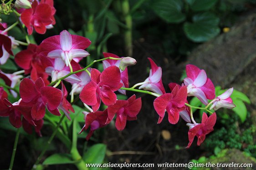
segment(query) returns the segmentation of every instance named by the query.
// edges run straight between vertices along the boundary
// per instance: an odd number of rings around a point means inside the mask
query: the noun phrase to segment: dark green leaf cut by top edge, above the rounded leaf
[[[191,10],[205,11],[212,8],[218,0],[186,0]]]

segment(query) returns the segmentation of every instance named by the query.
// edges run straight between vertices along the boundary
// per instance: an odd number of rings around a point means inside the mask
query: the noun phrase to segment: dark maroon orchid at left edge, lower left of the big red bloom
[[[30,111],[31,107],[20,105],[20,101],[12,104],[6,98],[3,100],[0,99],[0,116],[9,117],[10,123],[16,128],[20,128],[22,125],[21,115],[23,115],[23,119],[26,119],[26,121],[34,124]]]

